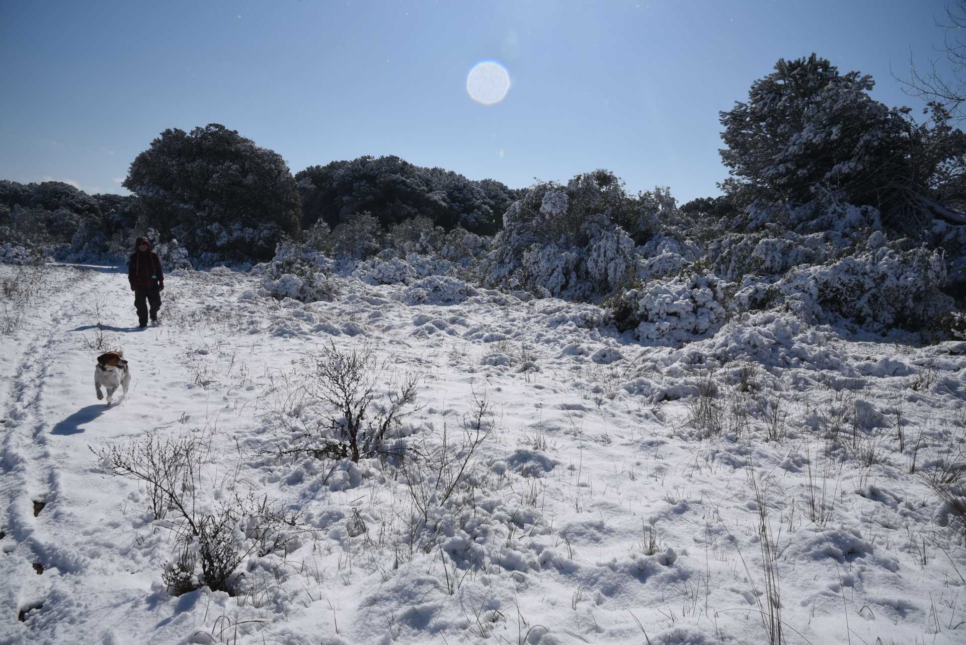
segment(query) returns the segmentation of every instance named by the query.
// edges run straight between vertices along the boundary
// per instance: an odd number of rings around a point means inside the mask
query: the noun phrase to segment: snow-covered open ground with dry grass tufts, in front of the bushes
[[[647,347],[591,305],[345,278],[302,304],[224,269],[176,271],[138,330],[123,273],[0,279],[31,287],[0,301],[0,643],[966,642],[963,529],[923,479],[963,461],[966,343],[766,312]],[[320,427],[327,347],[417,379],[394,435],[428,457],[282,454]],[[113,407],[101,348],[130,361]],[[428,494],[481,403],[488,437]],[[168,593],[177,513],[95,455],[151,433],[203,447],[197,508],[298,515],[231,596]]]

